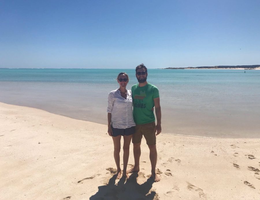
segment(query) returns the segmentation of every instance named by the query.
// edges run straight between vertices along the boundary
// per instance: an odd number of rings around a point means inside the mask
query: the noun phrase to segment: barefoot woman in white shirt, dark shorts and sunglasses
[[[126,86],[129,81],[127,73],[121,72],[117,76],[119,89],[113,90],[108,94],[107,119],[108,134],[112,136],[114,142],[114,159],[117,167],[117,178],[121,176],[120,168],[120,140],[124,138],[123,155],[123,176],[128,178],[126,173],[129,158],[129,146],[132,134],[135,132],[135,122],[133,120],[132,95],[131,90]]]

